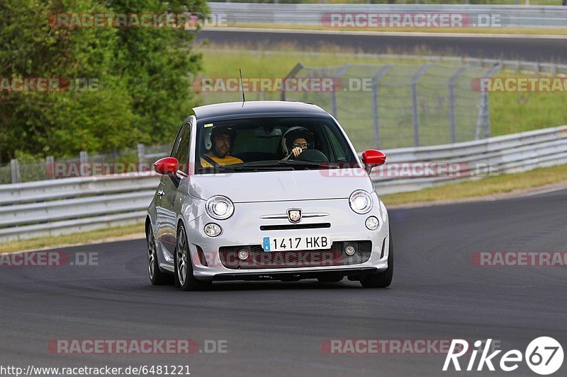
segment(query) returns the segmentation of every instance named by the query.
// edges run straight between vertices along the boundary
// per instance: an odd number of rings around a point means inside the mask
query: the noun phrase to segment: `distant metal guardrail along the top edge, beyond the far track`
[[[322,26],[329,13],[462,13],[495,16],[501,28],[566,28],[565,6],[461,5],[461,4],[251,4],[208,3],[213,16],[227,26],[272,24]],[[224,17],[223,17],[224,16]],[[395,28],[392,28],[395,30]]]

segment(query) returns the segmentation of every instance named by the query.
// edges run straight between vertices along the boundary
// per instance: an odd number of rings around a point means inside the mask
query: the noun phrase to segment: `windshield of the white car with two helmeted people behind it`
[[[329,117],[253,117],[197,126],[197,173],[359,166]]]

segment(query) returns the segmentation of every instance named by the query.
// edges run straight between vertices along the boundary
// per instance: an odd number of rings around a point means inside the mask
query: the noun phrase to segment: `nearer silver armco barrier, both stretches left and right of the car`
[[[490,166],[493,173],[512,173],[567,163],[567,126],[385,152],[386,167],[393,163],[452,162],[469,167],[482,164]],[[375,176],[374,182],[378,194],[385,195],[471,175],[408,178],[386,174]],[[1,185],[0,242],[141,222],[158,182],[156,175],[123,175]]]

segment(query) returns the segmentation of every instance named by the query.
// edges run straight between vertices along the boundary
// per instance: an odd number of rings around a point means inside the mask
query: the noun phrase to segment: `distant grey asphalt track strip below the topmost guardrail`
[[[298,33],[281,31],[202,30],[197,40],[213,43],[247,45],[250,48],[269,48],[278,44],[291,44],[301,48],[318,49],[338,46],[349,51],[372,54],[443,54],[490,59],[520,59],[533,62],[567,62],[567,37],[474,37],[420,35],[369,35],[354,33]]]

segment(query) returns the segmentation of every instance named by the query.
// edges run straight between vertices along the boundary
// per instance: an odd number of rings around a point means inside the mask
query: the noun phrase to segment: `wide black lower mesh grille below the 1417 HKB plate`
[[[344,247],[349,243],[357,248],[352,256],[344,253]],[[242,249],[248,250],[249,257],[246,260],[238,257],[238,251]],[[227,246],[218,252],[220,262],[229,269],[346,266],[367,262],[372,253],[372,242],[339,241],[332,243],[330,249],[271,252],[265,252],[261,245]]]

